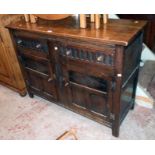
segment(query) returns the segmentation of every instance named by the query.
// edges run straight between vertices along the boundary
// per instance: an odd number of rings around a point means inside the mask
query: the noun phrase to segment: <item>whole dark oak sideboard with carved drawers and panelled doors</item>
[[[39,95],[112,128],[134,107],[144,21],[109,20],[96,30],[62,21],[7,26],[30,97]]]

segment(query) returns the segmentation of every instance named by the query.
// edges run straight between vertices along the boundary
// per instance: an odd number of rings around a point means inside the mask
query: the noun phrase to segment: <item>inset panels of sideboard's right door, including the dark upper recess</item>
[[[73,72],[72,72],[73,73]],[[108,84],[104,79],[69,71],[71,104],[92,114],[107,117],[109,114]]]

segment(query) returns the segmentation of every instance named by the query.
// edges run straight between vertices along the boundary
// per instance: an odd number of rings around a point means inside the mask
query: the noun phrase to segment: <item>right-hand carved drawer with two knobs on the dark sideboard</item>
[[[107,67],[114,66],[115,48],[100,48],[58,44],[59,55],[82,62],[100,64]]]

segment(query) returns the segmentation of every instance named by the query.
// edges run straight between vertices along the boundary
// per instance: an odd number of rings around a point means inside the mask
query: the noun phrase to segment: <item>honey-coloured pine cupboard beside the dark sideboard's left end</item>
[[[25,95],[25,83],[8,29],[5,28],[10,22],[19,20],[20,16],[0,15],[0,83]]]

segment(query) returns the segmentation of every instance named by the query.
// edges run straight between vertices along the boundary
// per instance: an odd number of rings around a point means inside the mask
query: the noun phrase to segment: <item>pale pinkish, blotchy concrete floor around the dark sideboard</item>
[[[55,140],[70,128],[76,128],[80,140],[155,139],[155,109],[136,106],[115,138],[108,127],[39,97],[20,97],[0,85],[0,139]]]

